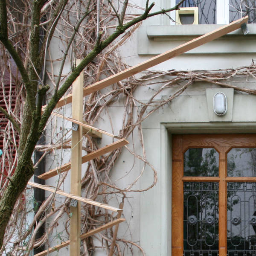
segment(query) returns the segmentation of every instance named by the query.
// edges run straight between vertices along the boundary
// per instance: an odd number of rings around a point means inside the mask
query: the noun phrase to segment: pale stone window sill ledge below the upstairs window
[[[221,26],[223,25],[142,26],[138,33],[138,54],[160,54]],[[247,24],[247,27],[250,31],[247,35],[244,35],[241,29],[237,29],[186,54],[255,53],[256,24]]]

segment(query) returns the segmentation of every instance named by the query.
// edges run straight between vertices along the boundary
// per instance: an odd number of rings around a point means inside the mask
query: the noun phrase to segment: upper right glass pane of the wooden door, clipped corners
[[[227,153],[227,176],[256,176],[256,148],[232,148]]]

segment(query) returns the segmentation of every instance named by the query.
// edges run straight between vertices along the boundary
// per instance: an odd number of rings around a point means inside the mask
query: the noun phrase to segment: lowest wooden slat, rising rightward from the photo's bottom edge
[[[119,218],[119,219],[117,219],[117,220],[115,220],[115,221],[111,221],[111,222],[108,223],[108,224],[105,224],[105,225],[103,225],[103,226],[101,226],[101,227],[97,227],[97,228],[94,229],[94,230],[90,230],[89,232],[87,232],[87,233],[85,233],[85,234],[82,234],[82,235],[80,236],[80,239],[81,239],[81,240],[86,239],[88,236],[93,236],[94,234],[99,233],[99,232],[101,232],[101,231],[103,231],[103,230],[106,230],[107,228],[110,228],[110,227],[113,227],[113,226],[115,226],[115,225],[118,225],[118,224],[120,224],[120,223],[123,222],[123,221],[125,221],[125,218]],[[63,243],[61,243],[61,244],[59,244],[59,245],[56,245],[56,246],[54,246],[54,247],[49,248],[48,250],[44,250],[44,251],[42,251],[41,253],[37,253],[37,254],[35,254],[34,256],[45,256],[45,255],[47,255],[48,253],[55,252],[56,250],[59,250],[59,249],[61,249],[61,248],[63,248],[63,247],[66,247],[66,246],[68,246],[69,244],[70,244],[70,240],[67,240],[67,241],[65,241],[65,242],[63,242]]]

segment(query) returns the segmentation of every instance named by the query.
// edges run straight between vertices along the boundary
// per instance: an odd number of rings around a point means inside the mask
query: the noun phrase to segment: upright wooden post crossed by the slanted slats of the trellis
[[[81,60],[77,60],[78,65]],[[83,118],[83,73],[73,82],[72,118],[82,122]],[[71,185],[70,193],[81,195],[82,127],[72,129]],[[70,206],[70,256],[80,256],[81,203]]]

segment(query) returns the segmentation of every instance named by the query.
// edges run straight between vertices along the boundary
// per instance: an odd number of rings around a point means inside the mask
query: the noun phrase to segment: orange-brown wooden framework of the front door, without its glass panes
[[[188,148],[215,148],[219,153],[219,177],[183,177],[183,154]],[[256,181],[256,177],[227,177],[227,153],[231,148],[256,147],[256,134],[185,134],[172,136],[172,256],[183,255],[183,182],[219,182],[219,255],[227,255],[227,182]],[[221,227],[221,229],[220,229]]]

